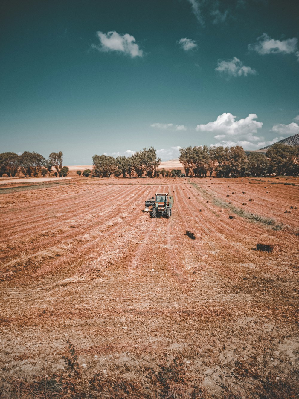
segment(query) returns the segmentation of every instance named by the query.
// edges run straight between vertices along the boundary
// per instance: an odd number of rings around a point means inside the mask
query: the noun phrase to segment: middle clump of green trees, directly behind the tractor
[[[113,158],[107,155],[94,155],[93,171],[91,176],[108,177],[112,174],[116,177],[127,174],[131,177],[132,173],[136,173],[138,177],[145,174],[148,177],[157,175],[158,166],[161,158],[157,157],[154,147],[143,148],[141,151],[135,152],[132,156],[118,156]]]

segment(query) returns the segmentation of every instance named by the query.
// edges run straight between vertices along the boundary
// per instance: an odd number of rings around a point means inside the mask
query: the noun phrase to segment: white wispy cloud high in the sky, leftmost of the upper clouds
[[[100,41],[100,45],[92,45],[92,48],[98,49],[99,51],[118,51],[120,53],[129,54],[132,58],[142,57],[143,51],[139,48],[136,43],[134,36],[129,34],[120,35],[115,31],[106,33],[97,32],[97,36]]]

